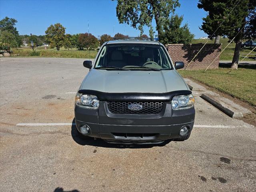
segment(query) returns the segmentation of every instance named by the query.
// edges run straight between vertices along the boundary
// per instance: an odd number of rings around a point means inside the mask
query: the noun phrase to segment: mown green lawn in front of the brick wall
[[[256,106],[256,70],[238,68],[227,74],[230,68],[215,70],[178,70],[185,78],[202,82],[217,90]]]

